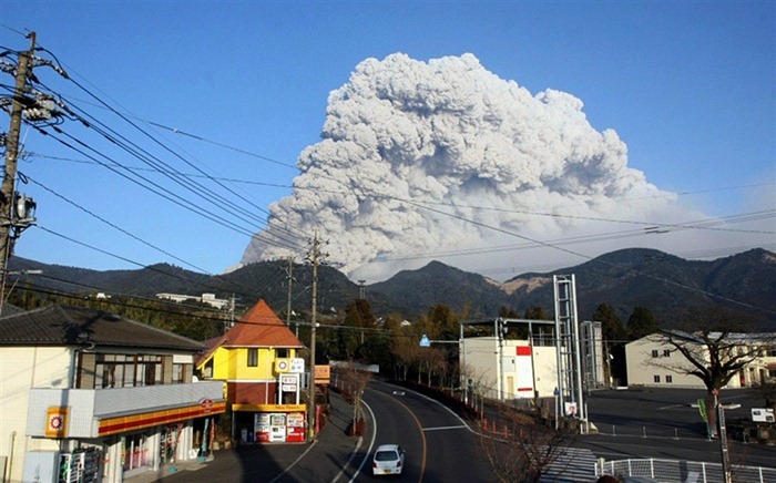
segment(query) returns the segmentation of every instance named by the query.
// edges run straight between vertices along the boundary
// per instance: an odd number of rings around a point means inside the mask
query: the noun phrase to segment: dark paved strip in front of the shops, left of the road
[[[210,461],[190,460],[167,464],[159,471],[147,471],[125,477],[127,483],[175,482],[242,482],[258,481],[251,474],[256,467],[274,473],[274,480],[321,481],[333,477],[360,449],[360,439],[347,434],[353,407],[331,391],[330,413],[326,427],[314,443],[248,444],[231,450],[214,451]],[[353,462],[351,464],[357,464]],[[269,471],[268,471],[269,470]],[[269,474],[265,473],[263,481]],[[310,479],[309,476],[315,477]],[[329,479],[331,481],[331,479]]]

